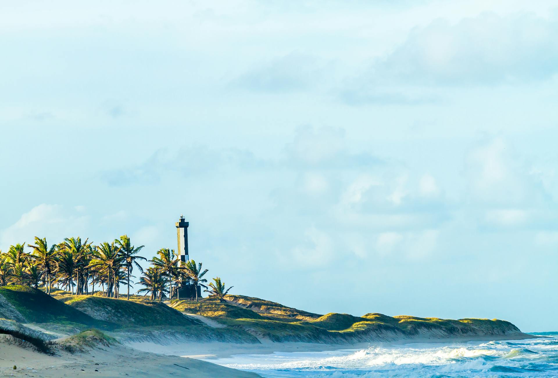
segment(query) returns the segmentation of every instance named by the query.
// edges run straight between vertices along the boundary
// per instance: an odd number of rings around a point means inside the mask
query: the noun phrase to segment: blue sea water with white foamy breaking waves
[[[558,377],[558,332],[514,341],[371,344],[366,349],[237,355],[217,364],[263,377]]]

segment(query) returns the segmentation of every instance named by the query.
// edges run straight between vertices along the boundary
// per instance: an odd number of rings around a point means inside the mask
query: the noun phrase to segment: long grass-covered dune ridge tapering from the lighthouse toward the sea
[[[379,313],[368,313],[362,317],[339,313],[320,316],[259,298],[227,295],[225,299],[225,303],[218,298],[205,298],[197,303],[173,301],[171,306],[276,342],[346,343],[420,335],[449,338],[519,332],[513,324],[497,320],[390,317]]]

